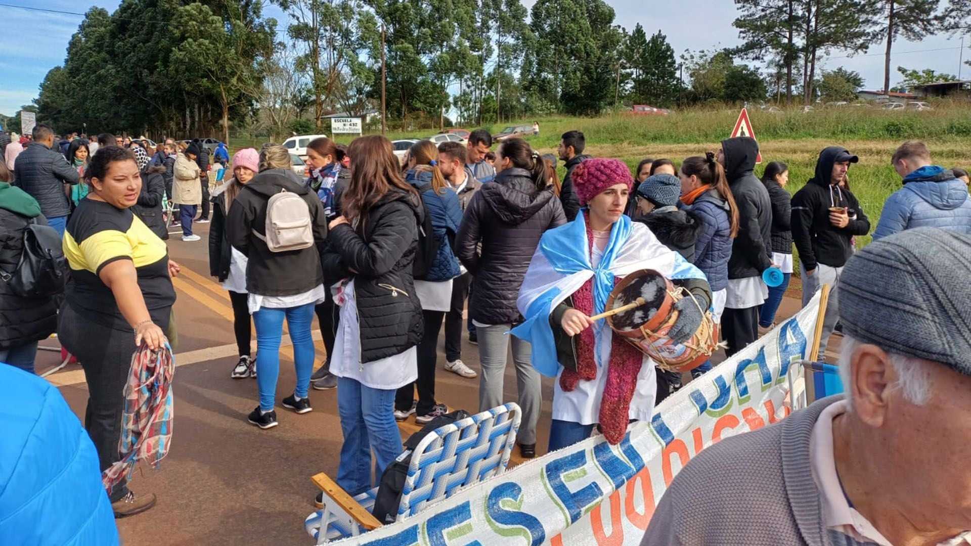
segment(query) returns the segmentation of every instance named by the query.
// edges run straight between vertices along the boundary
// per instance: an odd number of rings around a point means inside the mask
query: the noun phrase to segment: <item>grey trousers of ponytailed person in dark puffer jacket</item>
[[[479,336],[479,361],[482,374],[479,376],[479,411],[492,409],[506,403],[503,396],[503,383],[506,375],[506,358],[509,343],[513,342],[513,362],[516,364],[516,383],[519,387],[519,408],[522,409],[522,422],[519,424],[517,441],[520,444],[536,443],[536,424],[543,408],[543,392],[540,387],[540,374],[529,362],[532,347],[509,330],[512,324],[491,324],[476,328]]]

